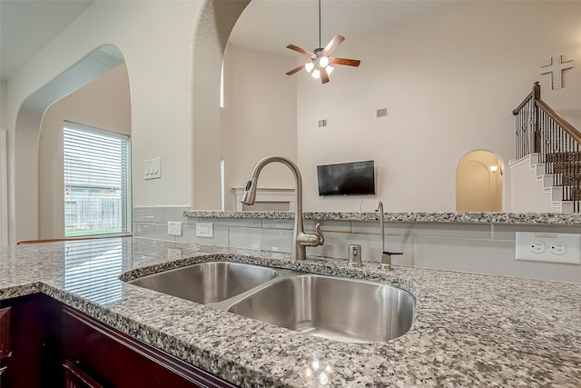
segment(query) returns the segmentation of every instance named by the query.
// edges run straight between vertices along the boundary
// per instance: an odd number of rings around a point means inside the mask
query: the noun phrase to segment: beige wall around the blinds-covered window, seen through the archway
[[[119,65],[52,104],[44,113],[38,154],[39,238],[64,237],[64,121],[131,135],[129,79]],[[133,176],[139,181],[140,177]]]

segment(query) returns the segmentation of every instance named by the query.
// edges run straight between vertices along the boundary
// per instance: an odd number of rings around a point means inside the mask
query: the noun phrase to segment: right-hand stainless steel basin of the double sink
[[[271,282],[228,311],[302,333],[369,343],[407,333],[415,304],[410,293],[389,284],[304,274]]]

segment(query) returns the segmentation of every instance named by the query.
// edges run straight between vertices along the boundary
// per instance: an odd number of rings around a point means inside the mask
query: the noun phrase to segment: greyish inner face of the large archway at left
[[[38,144],[46,108],[75,90],[124,63],[114,45],[103,45],[72,65],[61,75],[26,97],[15,122],[15,174],[10,214],[10,244],[39,236]],[[17,194],[17,195],[16,195]]]

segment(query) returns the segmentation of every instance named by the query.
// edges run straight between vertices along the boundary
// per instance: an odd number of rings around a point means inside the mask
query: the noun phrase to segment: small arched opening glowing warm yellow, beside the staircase
[[[502,212],[503,166],[487,150],[465,154],[456,170],[457,212]]]

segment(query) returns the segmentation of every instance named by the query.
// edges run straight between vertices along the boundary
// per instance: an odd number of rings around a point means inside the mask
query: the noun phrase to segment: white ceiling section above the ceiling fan
[[[458,0],[456,0],[458,1]],[[321,0],[320,44],[337,34],[350,39],[454,3],[450,0]],[[229,42],[281,55],[298,55],[286,45],[319,47],[318,0],[252,0]]]

